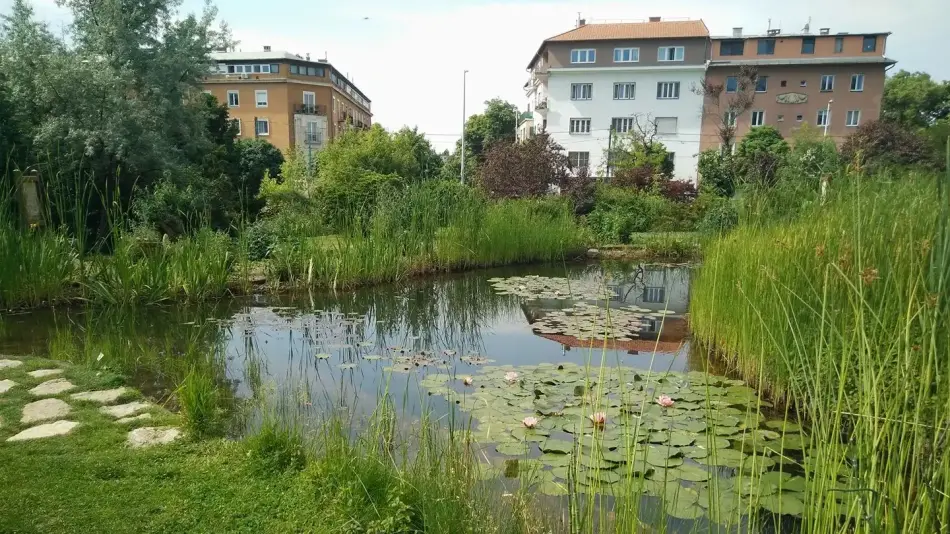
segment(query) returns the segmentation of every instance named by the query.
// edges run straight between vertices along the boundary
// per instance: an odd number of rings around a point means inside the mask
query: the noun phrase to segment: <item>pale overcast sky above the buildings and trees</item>
[[[13,0],[0,0],[0,12]],[[37,13],[58,31],[68,17],[54,0],[33,0]],[[202,0],[184,0],[184,11]],[[649,16],[702,18],[713,35],[734,26],[762,33],[769,26],[799,31],[890,31],[887,56],[895,69],[923,70],[950,79],[946,33],[950,0],[679,0],[663,6],[644,2],[541,0],[218,0],[219,17],[241,43],[239,50],[270,45],[321,58],[372,100],[374,121],[387,128],[418,126],[439,150],[461,132],[462,71],[469,70],[469,114],[502,97],[525,106],[525,66],[541,41],[574,26],[578,12],[588,22],[639,20]],[[939,37],[944,33],[943,38]]]

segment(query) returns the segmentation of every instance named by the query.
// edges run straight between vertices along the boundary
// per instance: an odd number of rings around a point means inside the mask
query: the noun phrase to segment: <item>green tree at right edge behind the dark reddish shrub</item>
[[[884,84],[881,119],[906,128],[926,128],[950,117],[950,82],[925,72],[902,70]]]

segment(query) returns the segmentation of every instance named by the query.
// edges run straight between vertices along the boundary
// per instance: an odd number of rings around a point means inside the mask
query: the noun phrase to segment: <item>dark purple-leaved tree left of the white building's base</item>
[[[478,183],[495,198],[537,197],[566,184],[570,171],[564,149],[541,134],[524,143],[493,145],[479,168]]]

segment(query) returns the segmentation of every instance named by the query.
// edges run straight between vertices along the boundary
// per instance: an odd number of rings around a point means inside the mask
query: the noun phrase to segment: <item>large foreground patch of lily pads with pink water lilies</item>
[[[469,412],[476,439],[495,453],[538,467],[534,483],[546,494],[566,494],[573,477],[583,493],[619,495],[635,484],[684,519],[731,521],[750,506],[804,510],[802,429],[766,420],[760,409],[770,405],[740,380],[546,363],[420,383]]]

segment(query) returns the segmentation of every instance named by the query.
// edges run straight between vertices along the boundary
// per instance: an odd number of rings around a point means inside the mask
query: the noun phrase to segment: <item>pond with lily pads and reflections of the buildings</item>
[[[644,510],[686,522],[673,531],[709,519],[744,530],[750,499],[798,515],[803,479],[782,466],[798,463],[800,428],[741,381],[707,374],[688,337],[691,276],[676,265],[526,266],[134,313],[44,310],[5,317],[0,353],[110,366],[159,398],[172,397],[171,369],[208,359],[234,399],[292,416],[359,419],[382,395],[407,425],[465,414],[486,473],[510,476],[518,459],[554,499],[568,481],[611,494],[637,480]],[[737,478],[750,473],[751,485]]]

